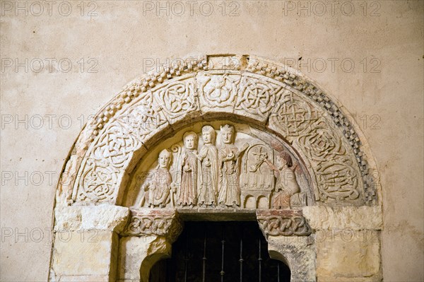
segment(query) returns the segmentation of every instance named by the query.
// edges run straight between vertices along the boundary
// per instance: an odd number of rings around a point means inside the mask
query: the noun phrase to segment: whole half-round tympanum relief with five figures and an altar
[[[140,206],[284,209],[307,205],[304,190],[309,187],[301,182],[303,172],[298,160],[293,165],[291,155],[285,151],[274,156],[278,151],[272,146],[244,132],[240,137],[250,144],[245,143],[239,150],[232,125],[220,127],[220,134],[219,151],[211,125],[201,129],[204,142],[199,151],[199,137],[194,131],[185,132],[183,140],[169,151],[161,151],[158,164],[152,164],[141,185],[146,193],[141,196]]]

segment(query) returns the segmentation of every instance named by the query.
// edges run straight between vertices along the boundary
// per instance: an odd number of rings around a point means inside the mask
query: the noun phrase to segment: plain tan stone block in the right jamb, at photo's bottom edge
[[[323,230],[316,238],[318,281],[381,281],[379,234]]]

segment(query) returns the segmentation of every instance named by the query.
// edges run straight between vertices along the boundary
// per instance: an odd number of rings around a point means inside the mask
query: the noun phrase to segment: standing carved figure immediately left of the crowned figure
[[[215,146],[216,133],[213,127],[206,125],[201,129],[204,146],[199,151],[199,206],[213,206],[218,194],[218,149]]]

